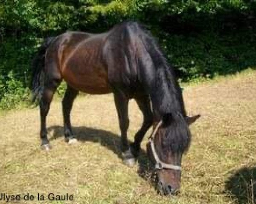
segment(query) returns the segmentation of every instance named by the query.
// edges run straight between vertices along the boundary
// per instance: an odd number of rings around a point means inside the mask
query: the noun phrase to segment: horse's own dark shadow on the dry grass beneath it
[[[120,150],[120,136],[106,130],[95,129],[90,127],[72,127],[73,133],[80,142],[94,142],[99,143],[109,150],[113,151],[120,159],[122,159]],[[49,140],[64,137],[64,130],[62,126],[51,126],[47,128],[48,132],[53,131],[53,136]],[[131,141],[129,141],[131,143]],[[138,174],[147,181],[153,184],[152,172],[153,165],[148,160],[145,150],[140,150],[140,156],[137,159],[139,164]]]

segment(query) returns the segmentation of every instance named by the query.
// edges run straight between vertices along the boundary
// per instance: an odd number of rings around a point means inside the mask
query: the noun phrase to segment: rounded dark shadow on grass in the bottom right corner
[[[256,203],[256,167],[241,168],[228,178],[225,184],[227,191],[239,204]]]

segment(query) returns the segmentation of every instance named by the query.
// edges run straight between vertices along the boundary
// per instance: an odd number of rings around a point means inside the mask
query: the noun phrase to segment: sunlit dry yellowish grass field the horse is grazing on
[[[0,193],[74,195],[73,201],[9,202],[31,204],[255,203],[256,73],[187,85],[183,96],[188,113],[200,113],[201,118],[191,126],[193,138],[183,156],[179,195],[157,195],[151,183],[145,154],[151,129],[137,165],[122,164],[112,95],[76,99],[71,120],[79,142],[73,146],[64,142],[61,102],[55,99],[47,119],[49,152],[39,148],[38,108],[1,113]],[[129,116],[132,141],[142,122],[133,100]]]

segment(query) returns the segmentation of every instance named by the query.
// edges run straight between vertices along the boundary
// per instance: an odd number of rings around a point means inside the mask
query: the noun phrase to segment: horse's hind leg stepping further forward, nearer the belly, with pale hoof
[[[64,116],[64,134],[65,141],[69,144],[76,142],[76,138],[73,136],[72,128],[70,125],[70,111],[73,105],[73,102],[78,95],[79,91],[67,85],[67,91],[62,100],[62,111]]]

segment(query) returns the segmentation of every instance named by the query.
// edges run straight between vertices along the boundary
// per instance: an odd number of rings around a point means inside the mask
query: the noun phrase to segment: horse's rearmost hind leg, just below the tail
[[[40,138],[42,140],[41,148],[45,150],[49,150],[49,141],[47,139],[47,130],[46,130],[46,117],[49,112],[50,103],[52,101],[52,97],[59,85],[59,81],[52,80],[51,82],[45,82],[44,90],[42,93],[42,98],[40,101],[40,119],[41,119],[41,130],[40,130]]]

